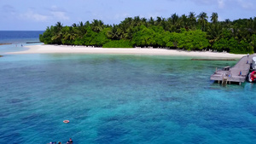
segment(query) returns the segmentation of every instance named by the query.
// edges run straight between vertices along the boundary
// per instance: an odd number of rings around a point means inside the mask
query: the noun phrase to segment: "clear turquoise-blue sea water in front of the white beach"
[[[15,44],[0,49],[8,47],[17,50]],[[237,60],[192,58],[3,55],[0,141],[256,143],[256,84],[210,80],[216,67]]]

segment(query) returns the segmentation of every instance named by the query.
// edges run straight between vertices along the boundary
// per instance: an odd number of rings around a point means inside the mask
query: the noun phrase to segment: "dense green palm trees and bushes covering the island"
[[[103,48],[154,47],[165,49],[227,51],[252,54],[256,51],[256,17],[253,19],[218,21],[212,13],[198,16],[172,14],[170,18],[154,20],[128,17],[119,25],[104,25],[93,20],[73,26],[47,27],[39,39],[47,44],[87,45]]]

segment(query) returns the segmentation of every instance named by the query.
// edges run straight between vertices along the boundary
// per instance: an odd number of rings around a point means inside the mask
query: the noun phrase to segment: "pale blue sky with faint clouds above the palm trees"
[[[256,16],[256,0],[0,0],[0,31],[44,31],[87,20],[119,24],[126,17],[169,18],[172,14],[218,13],[218,20]]]

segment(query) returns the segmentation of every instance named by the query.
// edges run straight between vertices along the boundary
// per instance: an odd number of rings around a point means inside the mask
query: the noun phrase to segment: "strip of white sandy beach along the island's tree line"
[[[121,54],[121,55],[181,55],[196,56],[204,58],[229,58],[240,59],[244,55],[234,55],[229,53],[218,53],[209,51],[183,51],[174,49],[106,49],[92,48],[85,46],[67,46],[67,45],[30,45],[25,51],[9,52],[8,55],[19,54]]]

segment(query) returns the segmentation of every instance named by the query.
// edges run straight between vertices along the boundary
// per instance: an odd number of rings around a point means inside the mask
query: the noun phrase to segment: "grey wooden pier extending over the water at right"
[[[216,68],[210,79],[222,84],[244,83],[254,56],[256,55],[243,56],[233,67],[226,66],[222,70]]]

